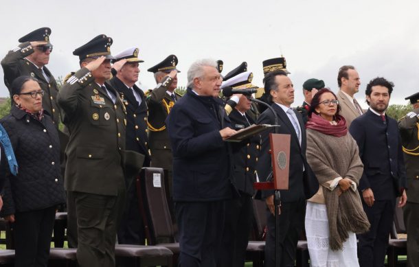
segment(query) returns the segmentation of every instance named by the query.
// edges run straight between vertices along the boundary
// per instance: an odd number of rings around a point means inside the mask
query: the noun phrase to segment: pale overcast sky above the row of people
[[[242,61],[262,86],[262,61],[286,58],[295,86],[319,78],[337,91],[337,71],[354,65],[361,78],[356,94],[365,107],[365,86],[376,76],[394,82],[390,104],[419,91],[419,2],[388,0],[260,1],[10,1],[1,0],[0,58],[18,39],[50,27],[54,45],[47,67],[56,78],[78,69],[72,52],[98,34],[113,38],[111,53],[139,47],[139,80],[155,86],[146,70],[166,56],[179,58],[179,86],[199,58],[224,61],[223,74]],[[3,80],[3,70],[0,70]],[[0,82],[0,97],[8,95]]]

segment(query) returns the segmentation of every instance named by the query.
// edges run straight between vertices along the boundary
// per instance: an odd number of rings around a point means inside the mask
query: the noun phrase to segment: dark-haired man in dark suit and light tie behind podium
[[[312,178],[312,172],[306,161],[306,129],[302,115],[291,108],[294,102],[294,88],[290,78],[284,71],[273,71],[265,78],[264,88],[269,92],[273,104],[271,105],[278,117],[278,133],[291,135],[288,190],[280,190],[280,263],[275,265],[275,207],[273,205],[273,190],[262,191],[262,198],[267,202],[267,242],[265,246],[265,267],[273,266],[294,266],[295,251],[299,234],[304,227],[306,214],[306,198],[319,189],[317,187],[308,189],[306,181]],[[258,124],[275,124],[275,115],[267,109],[258,118]],[[261,181],[269,176],[272,170],[271,154],[269,154],[269,132],[262,132],[262,150],[260,151],[256,170]]]

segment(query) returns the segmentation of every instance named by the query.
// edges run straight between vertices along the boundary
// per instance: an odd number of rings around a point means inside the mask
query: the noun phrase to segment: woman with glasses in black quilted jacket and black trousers
[[[57,205],[65,202],[58,132],[43,114],[43,91],[35,78],[12,82],[13,105],[0,120],[19,163],[6,173],[2,216],[14,222],[14,266],[47,266]]]

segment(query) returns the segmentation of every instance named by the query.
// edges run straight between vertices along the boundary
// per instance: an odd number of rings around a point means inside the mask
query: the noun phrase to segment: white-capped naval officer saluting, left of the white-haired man
[[[147,137],[147,104],[144,92],[135,84],[139,76],[139,49],[131,47],[115,56],[115,65],[119,66],[109,83],[115,88],[126,108],[126,149],[144,154],[144,167],[150,166],[150,152]],[[138,209],[135,175],[125,176],[127,201],[121,226],[118,229],[120,244],[144,244],[144,224]]]

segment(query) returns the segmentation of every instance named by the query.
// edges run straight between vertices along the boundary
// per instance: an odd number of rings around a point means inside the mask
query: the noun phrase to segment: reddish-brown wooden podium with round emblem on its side
[[[288,189],[291,135],[269,134],[271,143],[272,181],[253,183],[256,190]]]

